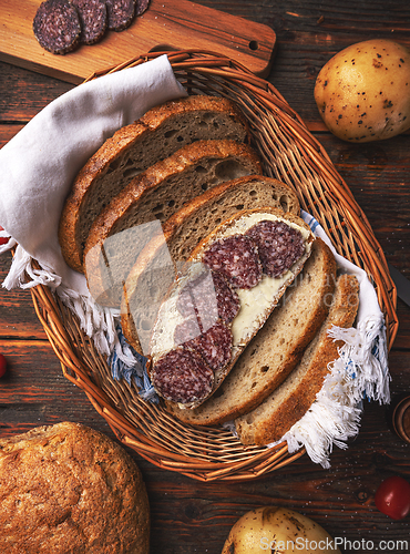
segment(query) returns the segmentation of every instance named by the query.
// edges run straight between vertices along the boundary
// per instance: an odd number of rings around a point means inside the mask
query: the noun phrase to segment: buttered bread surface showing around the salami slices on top
[[[185,279],[188,280],[192,278],[189,271],[196,271],[197,267],[199,267],[201,270],[201,267],[204,266],[202,261],[204,256],[217,240],[242,236],[255,224],[266,220],[284,222],[288,227],[298,229],[303,236],[304,253],[291,265],[291,267],[279,277],[268,277],[264,273],[262,280],[250,288],[239,288],[234,285],[239,298],[240,309],[233,319],[230,326],[233,336],[230,358],[227,363],[214,371],[213,387],[206,394],[195,398],[192,401],[174,402],[178,403],[178,406],[183,409],[196,408],[218,389],[235,365],[235,361],[245,350],[248,342],[262,328],[270,312],[277,306],[286,288],[301,271],[305,261],[310,256],[315,236],[312,235],[309,226],[306,225],[301,218],[293,214],[284,214],[277,208],[269,208],[265,206],[256,209],[244,209],[238,212],[227,222],[223,222],[218,227],[216,227],[216,229],[214,229],[213,233],[198,244],[187,260],[186,270],[184,270],[182,277],[175,283],[170,295],[160,308],[150,343],[150,356],[152,360],[152,382],[156,390],[161,393],[157,386],[158,376],[156,368],[161,360],[163,360],[170,351],[175,350],[174,331],[176,326],[184,321],[184,317],[178,311],[177,299],[181,290],[186,284]],[[242,254],[239,256],[242,256]],[[244,259],[248,259],[246,258],[246,255]],[[246,271],[248,269],[246,269]],[[167,400],[170,400],[170,398],[167,398]]]

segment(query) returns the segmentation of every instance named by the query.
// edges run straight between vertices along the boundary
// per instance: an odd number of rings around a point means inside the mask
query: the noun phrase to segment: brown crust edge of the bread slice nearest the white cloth
[[[227,120],[232,120],[238,130],[243,129],[243,140],[246,138],[248,129],[246,120],[233,102],[216,96],[193,95],[153,107],[137,122],[116,131],[90,157],[74,179],[60,218],[59,242],[61,252],[73,269],[83,273],[83,248],[89,227],[82,218],[82,213],[91,197],[93,198],[92,202],[95,203],[96,191],[104,187],[104,177],[110,167],[119,163],[136,144],[143,144],[150,135],[161,131],[165,123],[186,114],[195,116],[201,112],[224,114]],[[186,142],[191,142],[191,140],[186,137]],[[156,158],[161,158],[162,153],[165,152],[163,143],[164,140],[158,143]]]

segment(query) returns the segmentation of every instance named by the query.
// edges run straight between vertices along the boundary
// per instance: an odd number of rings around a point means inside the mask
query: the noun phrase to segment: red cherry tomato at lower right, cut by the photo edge
[[[375,503],[392,520],[402,520],[410,512],[410,483],[399,475],[386,479],[376,491]]]

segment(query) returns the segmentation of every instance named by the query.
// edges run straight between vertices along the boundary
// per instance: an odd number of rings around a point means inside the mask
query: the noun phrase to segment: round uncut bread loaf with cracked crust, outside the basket
[[[104,434],[62,422],[0,439],[0,552],[148,554],[141,472]]]

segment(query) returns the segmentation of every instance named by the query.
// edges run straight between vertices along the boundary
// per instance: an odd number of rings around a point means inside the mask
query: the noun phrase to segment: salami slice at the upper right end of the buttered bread
[[[250,227],[246,236],[258,246],[260,261],[269,277],[279,277],[305,252],[304,237],[284,222],[263,220]]]

